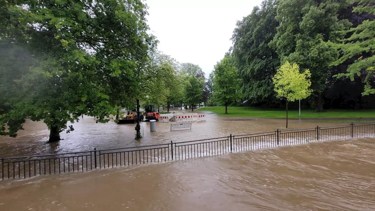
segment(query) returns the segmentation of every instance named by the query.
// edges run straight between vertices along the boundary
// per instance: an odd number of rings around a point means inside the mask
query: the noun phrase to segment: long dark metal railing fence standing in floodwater
[[[186,160],[229,152],[251,151],[375,136],[375,123],[348,124],[329,127],[315,127],[296,130],[276,130],[201,139],[186,142],[172,142],[160,145],[131,148],[107,149],[86,152],[71,152],[50,155],[0,158],[1,180],[24,179],[37,175],[52,175],[65,172],[87,172],[117,166],[134,166],[147,163],[162,163],[172,160]]]

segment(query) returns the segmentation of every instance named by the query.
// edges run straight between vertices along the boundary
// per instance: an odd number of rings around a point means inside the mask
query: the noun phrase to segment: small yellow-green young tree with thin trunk
[[[307,69],[300,73],[300,67],[296,63],[291,65],[285,62],[272,78],[275,85],[276,97],[287,101],[287,126],[288,128],[288,102],[305,99],[311,95],[311,73]]]

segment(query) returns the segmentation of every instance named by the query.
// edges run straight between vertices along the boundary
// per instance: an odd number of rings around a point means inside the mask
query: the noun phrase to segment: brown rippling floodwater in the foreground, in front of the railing
[[[352,139],[1,181],[0,210],[370,211],[374,154]]]

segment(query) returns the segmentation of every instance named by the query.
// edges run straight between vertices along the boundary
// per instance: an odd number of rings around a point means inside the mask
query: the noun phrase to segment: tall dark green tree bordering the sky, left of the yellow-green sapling
[[[243,92],[251,104],[275,99],[270,79],[280,61],[276,51],[268,44],[279,26],[276,20],[278,2],[263,1],[261,8],[254,7],[250,15],[237,22],[233,32],[233,57],[243,80]]]

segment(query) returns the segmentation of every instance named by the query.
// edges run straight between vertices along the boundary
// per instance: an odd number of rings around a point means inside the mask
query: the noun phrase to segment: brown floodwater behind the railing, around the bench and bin
[[[181,112],[179,109],[171,109],[171,111]],[[183,112],[190,111],[183,110]],[[157,122],[157,131],[150,132],[150,123],[142,122],[143,138],[140,140],[134,139],[135,124],[117,125],[114,122],[96,124],[94,118],[84,116],[74,124],[74,131],[71,133],[63,131],[60,134],[63,140],[58,143],[46,143],[49,136],[46,125],[43,122],[27,121],[24,124],[25,130],[19,131],[17,138],[0,136],[0,157],[91,151],[94,147],[124,148],[285,129],[285,119],[225,118],[213,113],[206,114],[207,121],[194,122],[191,130],[170,131],[170,123]],[[288,129],[341,124],[292,119],[289,120]]]

